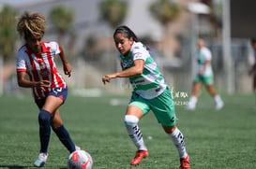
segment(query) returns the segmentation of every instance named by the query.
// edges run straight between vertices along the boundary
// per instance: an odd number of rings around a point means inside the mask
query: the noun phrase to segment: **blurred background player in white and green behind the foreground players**
[[[203,39],[198,40],[198,52],[197,52],[197,62],[198,62],[198,72],[193,82],[192,96],[189,99],[187,106],[188,110],[194,110],[197,104],[198,93],[201,88],[202,83],[206,86],[207,91],[213,96],[216,103],[216,110],[220,110],[223,107],[223,101],[218,95],[218,92],[213,87],[213,70],[212,70],[212,53],[209,49],[205,47]]]

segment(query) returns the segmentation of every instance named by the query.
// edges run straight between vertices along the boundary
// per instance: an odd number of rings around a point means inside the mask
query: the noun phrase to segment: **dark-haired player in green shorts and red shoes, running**
[[[133,86],[124,119],[128,135],[138,148],[136,156],[130,164],[139,164],[143,158],[148,156],[138,123],[151,109],[178,150],[180,168],[190,168],[183,134],[175,125],[173,98],[158,70],[157,63],[127,26],[117,27],[113,39],[116,49],[120,52],[119,57],[123,71],[105,75],[102,77],[102,81],[105,84],[112,78],[128,77]]]

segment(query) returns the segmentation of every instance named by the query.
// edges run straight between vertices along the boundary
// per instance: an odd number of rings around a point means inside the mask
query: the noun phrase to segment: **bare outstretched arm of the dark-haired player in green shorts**
[[[105,82],[110,82],[111,78],[116,78],[116,77],[135,77],[138,75],[142,75],[143,67],[144,67],[143,59],[135,60],[133,63],[134,63],[134,66],[126,70],[105,75],[104,77],[102,77],[102,82],[105,84]]]

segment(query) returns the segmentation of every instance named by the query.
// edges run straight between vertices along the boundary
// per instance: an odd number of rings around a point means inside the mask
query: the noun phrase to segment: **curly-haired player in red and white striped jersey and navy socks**
[[[59,107],[67,98],[68,86],[56,70],[54,58],[59,54],[65,75],[68,77],[71,76],[71,65],[58,43],[42,40],[45,30],[46,20],[39,13],[24,12],[17,24],[17,31],[25,42],[17,53],[18,84],[23,88],[32,88],[39,108],[40,150],[34,163],[37,167],[43,166],[47,161],[51,126],[70,153],[76,150],[60,117]],[[30,80],[25,78],[26,75]]]

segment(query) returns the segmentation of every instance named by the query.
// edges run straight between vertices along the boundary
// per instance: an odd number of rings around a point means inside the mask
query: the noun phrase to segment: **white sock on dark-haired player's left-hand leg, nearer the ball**
[[[128,136],[138,149],[147,150],[143,141],[143,134],[138,126],[138,122],[139,119],[135,116],[125,116],[125,125],[127,127]]]

